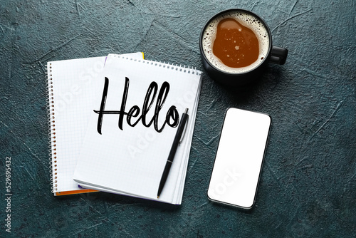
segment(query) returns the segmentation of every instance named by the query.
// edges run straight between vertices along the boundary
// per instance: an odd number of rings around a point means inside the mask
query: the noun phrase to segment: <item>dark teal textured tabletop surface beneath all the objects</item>
[[[53,197],[47,61],[144,51],[147,59],[203,71],[201,27],[230,8],[262,16],[289,56],[246,88],[204,75],[182,205],[105,193]],[[0,0],[0,237],[355,237],[355,13],[353,0]],[[250,212],[206,197],[228,107],[273,120]]]

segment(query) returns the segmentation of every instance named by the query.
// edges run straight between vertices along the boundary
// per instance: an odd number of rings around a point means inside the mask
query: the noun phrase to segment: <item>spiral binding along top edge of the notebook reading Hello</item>
[[[137,61],[138,63],[147,63],[147,64],[151,64],[154,66],[158,66],[158,67],[162,67],[162,68],[167,68],[170,70],[175,70],[175,71],[179,71],[179,72],[183,72],[183,73],[192,73],[192,74],[197,74],[197,75],[201,75],[201,71],[197,70],[197,68],[193,68],[190,66],[182,66],[178,64],[176,64],[174,66],[174,64],[171,63],[165,63],[165,62],[161,62],[161,61],[149,61],[149,60],[145,60],[145,59],[137,59],[137,58],[129,58],[127,56],[120,56],[114,53],[110,53],[109,56],[115,57],[115,58],[125,58],[127,60],[130,61]]]

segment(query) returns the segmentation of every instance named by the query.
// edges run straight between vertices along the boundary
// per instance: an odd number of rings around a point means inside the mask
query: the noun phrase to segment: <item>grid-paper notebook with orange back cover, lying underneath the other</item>
[[[127,56],[142,58],[143,54]],[[73,181],[73,173],[92,111],[95,81],[105,59],[106,56],[47,63],[49,153],[55,196],[93,192],[80,190]]]

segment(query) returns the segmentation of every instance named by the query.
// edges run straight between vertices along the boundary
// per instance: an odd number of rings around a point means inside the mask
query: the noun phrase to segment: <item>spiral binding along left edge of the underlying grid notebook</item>
[[[56,152],[56,117],[54,110],[54,98],[53,98],[53,78],[52,78],[52,63],[48,63],[46,66],[46,86],[48,89],[48,102],[46,103],[46,108],[48,110],[48,156],[50,164],[50,174],[51,174],[51,190],[52,192],[57,191],[57,152]],[[48,78],[49,76],[49,78]],[[53,170],[54,167],[54,170]]]

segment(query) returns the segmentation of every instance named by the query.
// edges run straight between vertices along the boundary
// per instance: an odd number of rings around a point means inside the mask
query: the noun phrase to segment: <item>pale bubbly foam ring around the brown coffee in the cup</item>
[[[216,38],[216,29],[219,22],[223,19],[231,18],[239,21],[240,24],[251,29],[258,38],[260,52],[258,55],[258,60],[252,63],[249,66],[241,67],[241,68],[231,68],[229,66],[224,65],[219,58],[217,58],[213,51],[212,46]],[[260,65],[263,60],[266,58],[268,53],[270,39],[268,37],[268,32],[265,26],[257,19],[255,16],[252,16],[244,11],[230,11],[225,14],[219,15],[207,24],[206,29],[204,30],[204,34],[202,37],[202,48],[204,54],[208,61],[219,68],[221,71],[225,71],[227,73],[244,73],[247,71],[251,71],[253,68],[256,68]],[[239,47],[238,45],[236,45]]]

